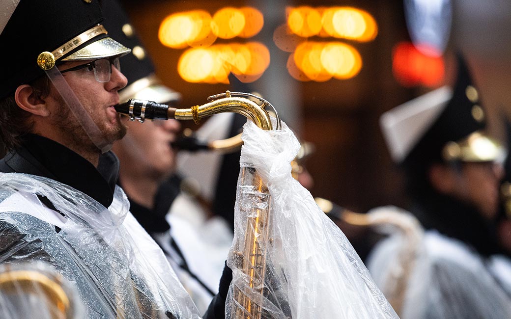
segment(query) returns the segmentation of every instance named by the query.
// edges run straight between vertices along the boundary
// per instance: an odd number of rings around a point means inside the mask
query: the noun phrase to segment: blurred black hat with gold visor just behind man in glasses
[[[121,59],[123,74],[128,79],[128,85],[119,91],[121,102],[133,98],[156,103],[177,103],[181,94],[162,85],[156,77],[154,65],[121,4],[117,0],[101,0],[100,4],[105,17],[103,25],[108,33],[132,49],[131,54]]]

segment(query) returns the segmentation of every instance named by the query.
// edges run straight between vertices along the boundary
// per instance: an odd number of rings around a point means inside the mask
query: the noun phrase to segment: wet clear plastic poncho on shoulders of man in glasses
[[[49,263],[76,287],[85,317],[200,317],[121,188],[107,209],[53,180],[9,173],[0,200],[0,262]]]

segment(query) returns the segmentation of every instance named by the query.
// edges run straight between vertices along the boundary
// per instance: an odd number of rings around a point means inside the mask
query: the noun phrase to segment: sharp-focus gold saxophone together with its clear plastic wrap
[[[397,318],[340,229],[291,174],[300,144],[259,96],[231,93],[176,109],[129,100],[115,109],[132,120],[194,120],[222,112],[246,116],[235,205],[233,270],[225,316]],[[272,116],[270,116],[272,113]]]

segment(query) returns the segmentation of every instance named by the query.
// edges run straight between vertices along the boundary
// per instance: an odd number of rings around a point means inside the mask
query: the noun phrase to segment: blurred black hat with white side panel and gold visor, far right
[[[380,118],[394,162],[424,167],[433,162],[486,162],[503,159],[503,148],[483,132],[485,111],[464,59],[457,55],[454,88],[440,87]]]

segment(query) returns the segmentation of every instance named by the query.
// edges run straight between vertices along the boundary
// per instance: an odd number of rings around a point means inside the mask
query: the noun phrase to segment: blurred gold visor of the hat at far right
[[[495,139],[476,131],[460,141],[448,142],[442,156],[446,161],[502,162],[505,150]]]

